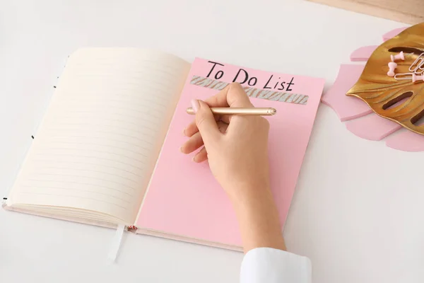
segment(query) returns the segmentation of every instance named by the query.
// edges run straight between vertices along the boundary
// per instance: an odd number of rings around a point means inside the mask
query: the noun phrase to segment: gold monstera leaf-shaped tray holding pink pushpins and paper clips
[[[405,60],[396,61],[396,74],[411,73],[409,67],[424,53],[424,23],[413,25],[377,47],[360,79],[346,96],[356,96],[364,100],[377,115],[424,135],[424,124],[418,125],[418,120],[424,116],[424,81],[397,81],[387,76],[390,55],[399,52],[404,52]]]

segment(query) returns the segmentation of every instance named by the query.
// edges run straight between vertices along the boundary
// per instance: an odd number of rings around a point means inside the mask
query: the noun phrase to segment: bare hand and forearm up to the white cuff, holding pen
[[[278,212],[269,183],[269,122],[260,116],[214,116],[210,107],[252,108],[239,83],[206,101],[193,100],[196,120],[184,129],[182,147],[190,154],[204,146],[194,162],[208,159],[218,183],[237,214],[245,252],[269,247],[285,250]]]

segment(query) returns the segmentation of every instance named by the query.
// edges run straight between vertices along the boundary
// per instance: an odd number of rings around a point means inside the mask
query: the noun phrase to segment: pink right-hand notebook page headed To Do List
[[[192,155],[179,152],[179,147],[187,140],[182,131],[193,120],[185,110],[193,98],[204,100],[216,94],[223,88],[223,82],[230,83],[235,79],[237,72],[236,81],[248,87],[247,93],[256,107],[276,108],[277,114],[268,118],[271,123],[269,162],[271,190],[283,226],[310,139],[324,79],[247,68],[239,72],[240,67],[220,64],[205,59],[196,59],[192,64],[136,226],[201,241],[242,246],[235,212],[213,178],[208,163],[194,163]],[[198,86],[196,84],[201,85],[202,78],[196,79],[196,76],[214,81],[208,87]],[[278,90],[283,81],[284,89]],[[264,88],[266,91],[259,93]]]

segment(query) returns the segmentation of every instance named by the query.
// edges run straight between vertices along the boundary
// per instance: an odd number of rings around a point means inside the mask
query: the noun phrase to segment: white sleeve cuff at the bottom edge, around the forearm
[[[309,258],[275,248],[254,248],[245,255],[240,283],[311,283]]]

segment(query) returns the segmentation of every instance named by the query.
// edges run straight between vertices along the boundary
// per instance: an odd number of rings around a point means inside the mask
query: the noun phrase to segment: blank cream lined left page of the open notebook
[[[133,224],[189,67],[129,48],[71,54],[8,203]]]

